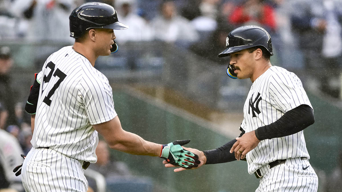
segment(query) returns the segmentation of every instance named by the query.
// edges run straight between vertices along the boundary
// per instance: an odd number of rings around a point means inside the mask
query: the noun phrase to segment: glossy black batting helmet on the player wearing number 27
[[[106,3],[89,2],[74,9],[69,16],[70,37],[79,38],[92,28],[127,29],[128,26],[118,20],[113,6]]]

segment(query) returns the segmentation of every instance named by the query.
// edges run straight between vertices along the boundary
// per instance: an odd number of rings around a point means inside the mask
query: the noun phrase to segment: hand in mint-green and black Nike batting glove
[[[198,155],[182,148],[182,145],[190,142],[187,140],[176,140],[172,143],[162,146],[160,157],[171,163],[187,169],[197,167],[200,164]]]

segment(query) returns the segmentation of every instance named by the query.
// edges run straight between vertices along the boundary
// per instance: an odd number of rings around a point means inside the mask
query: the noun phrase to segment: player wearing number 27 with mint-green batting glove
[[[112,149],[159,156],[185,168],[197,166],[198,156],[181,147],[189,140],[160,145],[122,129],[108,79],[94,68],[98,56],[118,50],[113,29],[128,28],[118,21],[115,9],[85,3],[69,20],[74,45],[48,57],[25,107],[35,113],[33,147],[16,174],[22,173],[25,190],[87,191],[83,169],[96,162],[98,133]]]

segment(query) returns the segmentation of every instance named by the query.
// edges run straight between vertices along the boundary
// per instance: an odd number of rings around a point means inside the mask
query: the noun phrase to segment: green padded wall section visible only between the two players
[[[183,114],[175,114],[127,93],[113,92],[113,96],[123,129],[148,141],[168,143],[191,139],[186,147],[206,150],[233,139],[195,123],[194,119],[181,116]],[[174,173],[172,168],[165,168],[158,157],[111,151],[116,159],[126,162],[134,174],[152,177],[158,185],[169,191],[251,191],[259,185],[258,179],[247,173],[245,161],[205,165],[197,170]]]

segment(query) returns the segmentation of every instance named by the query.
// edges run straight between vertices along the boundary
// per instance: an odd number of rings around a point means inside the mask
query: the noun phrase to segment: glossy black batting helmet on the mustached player
[[[229,56],[231,53],[255,46],[263,46],[270,55],[273,55],[271,36],[265,29],[253,25],[242,26],[228,34],[227,48],[218,57]]]

